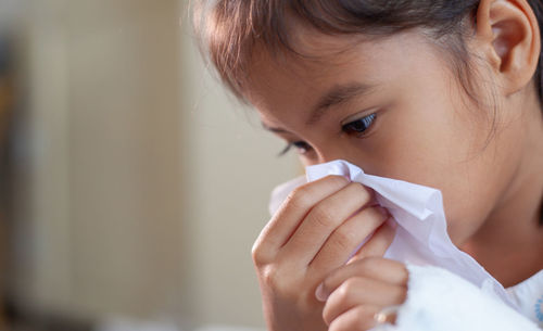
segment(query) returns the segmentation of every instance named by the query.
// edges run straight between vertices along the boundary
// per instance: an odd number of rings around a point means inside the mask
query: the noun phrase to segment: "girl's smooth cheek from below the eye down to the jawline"
[[[437,188],[443,193],[453,242],[482,225],[504,189],[504,153],[487,143],[490,124],[468,119],[443,99],[424,99],[391,109],[372,137],[369,153],[357,160],[368,173]],[[490,170],[493,169],[493,170]]]

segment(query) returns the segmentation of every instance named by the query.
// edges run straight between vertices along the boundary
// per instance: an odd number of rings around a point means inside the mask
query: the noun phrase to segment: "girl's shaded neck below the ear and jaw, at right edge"
[[[505,287],[543,269],[543,116],[534,105],[521,160],[506,198],[460,249]]]

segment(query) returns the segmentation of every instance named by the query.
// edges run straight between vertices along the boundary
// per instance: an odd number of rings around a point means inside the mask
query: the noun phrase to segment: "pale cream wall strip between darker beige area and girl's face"
[[[187,26],[182,39],[191,296],[199,320],[263,327],[250,251],[269,218],[270,190],[299,167],[292,156],[275,156],[283,143],[210,76]]]

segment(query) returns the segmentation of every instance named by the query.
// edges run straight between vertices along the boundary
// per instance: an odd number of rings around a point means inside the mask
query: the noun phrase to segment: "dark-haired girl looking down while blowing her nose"
[[[452,241],[505,287],[543,268],[541,0],[217,0],[195,17],[283,153],[441,190]],[[338,176],[289,195],[253,246],[269,330],[368,330],[404,303],[371,200]]]

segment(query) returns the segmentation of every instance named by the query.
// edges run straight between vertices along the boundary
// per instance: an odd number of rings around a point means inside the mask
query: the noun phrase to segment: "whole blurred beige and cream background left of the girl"
[[[0,330],[260,330],[293,155],[205,68],[188,0],[0,0]]]

